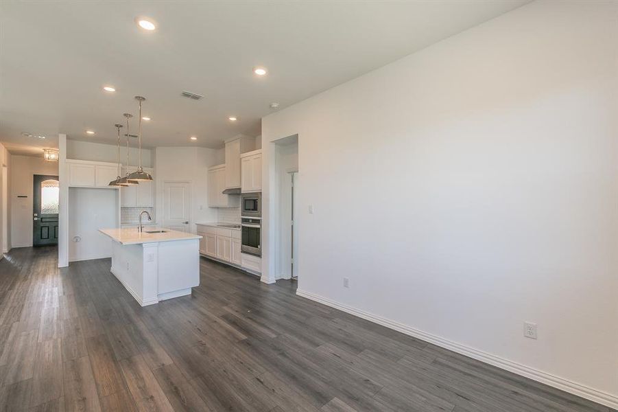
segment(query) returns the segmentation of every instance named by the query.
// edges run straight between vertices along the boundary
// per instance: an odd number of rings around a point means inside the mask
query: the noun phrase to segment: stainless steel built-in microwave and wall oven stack
[[[254,256],[261,256],[262,199],[260,193],[241,194],[240,250]]]

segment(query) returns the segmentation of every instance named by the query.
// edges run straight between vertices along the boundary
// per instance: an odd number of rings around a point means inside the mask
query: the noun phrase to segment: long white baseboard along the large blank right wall
[[[411,328],[408,325],[392,321],[377,314],[372,314],[364,310],[353,308],[352,306],[340,304],[337,301],[333,301],[331,299],[316,295],[311,292],[306,292],[305,290],[297,289],[296,295],[306,297],[307,299],[311,299],[312,301],[316,301],[320,304],[331,306],[331,308],[339,309],[343,312],[353,314],[368,321],[378,323],[379,325],[383,325],[387,328],[396,330],[409,336],[414,336],[415,338],[421,339],[425,342],[433,343],[433,345],[444,347],[445,349],[452,350],[453,352],[457,352],[458,354],[469,356],[476,359],[477,361],[488,363],[489,365],[511,371],[514,374],[525,376],[526,378],[536,380],[537,382],[544,383],[545,385],[549,385],[562,391],[572,393],[573,395],[580,396],[593,402],[597,402],[599,404],[605,405],[606,407],[618,409],[618,396],[611,395],[610,393],[598,391],[597,389],[586,387],[576,382],[571,382],[571,380],[560,378],[559,376],[548,374],[547,372],[540,371],[526,365],[521,365],[520,363],[508,361],[508,359],[500,358],[499,356],[488,354],[487,352],[477,350],[473,347],[468,347],[466,345],[462,345],[461,343],[449,341],[449,339],[444,339],[440,336],[436,336],[434,334],[423,332],[422,330]]]

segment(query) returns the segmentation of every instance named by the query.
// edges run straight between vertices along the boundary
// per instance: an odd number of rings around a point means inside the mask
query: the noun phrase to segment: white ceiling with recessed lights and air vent
[[[270,102],[285,108],[524,3],[2,1],[0,141],[23,154],[56,147],[58,133],[115,143],[113,125],[136,115],[133,97],[143,95],[145,146],[217,148],[259,135]],[[257,65],[268,76],[257,78]]]

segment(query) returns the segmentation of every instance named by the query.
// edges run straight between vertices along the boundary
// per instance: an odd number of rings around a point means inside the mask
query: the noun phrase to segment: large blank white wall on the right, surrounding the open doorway
[[[618,406],[617,15],[530,3],[265,117],[265,275],[298,133],[301,293]]]

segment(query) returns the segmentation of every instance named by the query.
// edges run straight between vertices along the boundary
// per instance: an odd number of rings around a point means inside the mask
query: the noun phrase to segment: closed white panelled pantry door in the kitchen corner
[[[163,183],[163,226],[189,232],[191,222],[191,184]]]

